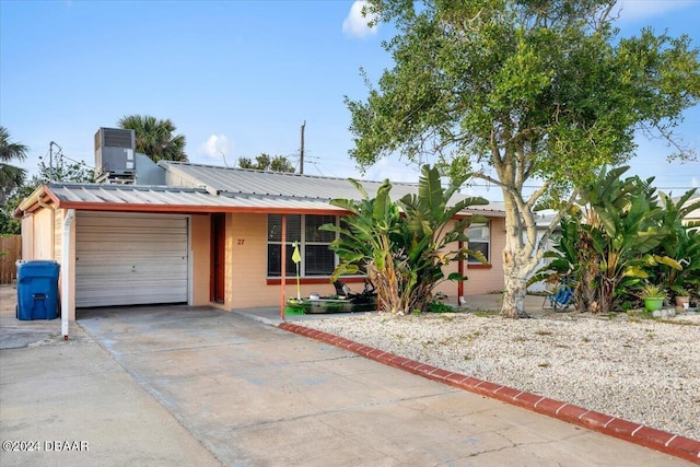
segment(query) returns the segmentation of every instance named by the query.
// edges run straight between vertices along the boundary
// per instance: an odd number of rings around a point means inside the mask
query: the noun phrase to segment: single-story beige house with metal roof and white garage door
[[[329,276],[337,258],[328,245],[335,234],[318,226],[347,213],[330,199],[360,198],[347,179],[148,161],[139,162],[148,168],[148,185],[138,177],[135,184],[49,183],[15,211],[22,218],[23,259],[61,264],[68,319],[80,318],[83,307],[113,305],[283,306],[285,296],[296,295],[294,241],[302,256],[302,295],[332,293]],[[361,183],[370,196],[381,185]],[[413,184],[396,183],[390,196],[416,190]],[[479,206],[462,215],[474,213],[488,222],[471,227],[470,247],[482,250],[489,264],[447,266],[447,273],[462,270],[469,277],[464,284],[441,285],[454,302],[503,289],[503,208]],[[343,280],[360,291],[362,278]]]

